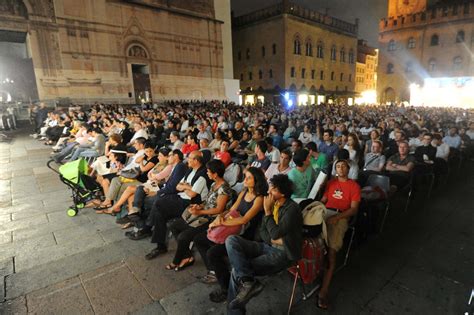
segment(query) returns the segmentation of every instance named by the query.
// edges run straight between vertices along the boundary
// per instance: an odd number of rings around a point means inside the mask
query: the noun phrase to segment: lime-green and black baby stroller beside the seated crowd
[[[67,215],[75,216],[79,209],[84,208],[86,203],[97,197],[100,193],[100,187],[95,180],[88,174],[89,166],[84,159],[78,159],[59,167],[59,170],[54,169],[50,160],[46,165],[48,168],[59,174],[61,182],[66,184],[72,190],[72,200],[74,205],[67,209]]]

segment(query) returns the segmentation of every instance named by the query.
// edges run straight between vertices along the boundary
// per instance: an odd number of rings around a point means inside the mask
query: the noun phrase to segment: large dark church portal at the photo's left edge
[[[25,32],[0,30],[0,103],[38,99]]]

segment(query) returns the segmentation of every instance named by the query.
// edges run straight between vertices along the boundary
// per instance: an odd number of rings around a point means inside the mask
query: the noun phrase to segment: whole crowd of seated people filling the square
[[[300,258],[302,218],[294,200],[308,198],[321,172],[330,178],[320,200],[331,216],[318,306],[327,308],[336,253],[370,175],[388,176],[398,190],[416,172],[440,176],[451,157],[472,157],[474,143],[473,113],[452,108],[289,111],[217,101],[43,108],[37,138],[54,145],[57,163],[86,158],[102,187],[103,198],[86,206],[116,216],[131,240],[151,238],[149,260],[168,251],[169,230],[178,247],[163,262],[167,270],[192,266],[194,244],[207,268],[201,280],[219,284],[210,300],[227,300],[231,313],[245,312],[263,289],[255,276]],[[237,232],[210,236],[224,228]]]

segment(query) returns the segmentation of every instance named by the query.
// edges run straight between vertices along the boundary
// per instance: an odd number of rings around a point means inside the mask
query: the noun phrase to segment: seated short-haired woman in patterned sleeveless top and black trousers
[[[214,183],[211,185],[206,202],[193,204],[185,210],[189,213],[187,220],[179,218],[170,225],[170,230],[178,242],[173,261],[166,266],[168,270],[180,271],[194,263],[189,244],[194,237],[206,231],[211,218],[221,214],[231,201],[232,189],[224,180],[225,167],[220,160],[211,160],[206,164],[207,176]]]

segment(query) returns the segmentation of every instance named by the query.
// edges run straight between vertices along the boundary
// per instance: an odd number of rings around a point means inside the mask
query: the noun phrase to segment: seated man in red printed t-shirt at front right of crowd
[[[318,307],[322,309],[328,308],[327,295],[336,267],[336,253],[342,247],[349,218],[357,214],[360,203],[360,186],[348,178],[349,163],[346,160],[336,162],[336,175],[336,178],[327,183],[326,191],[321,199],[321,202],[329,209],[328,212],[333,214],[326,219],[329,263],[319,291]]]

